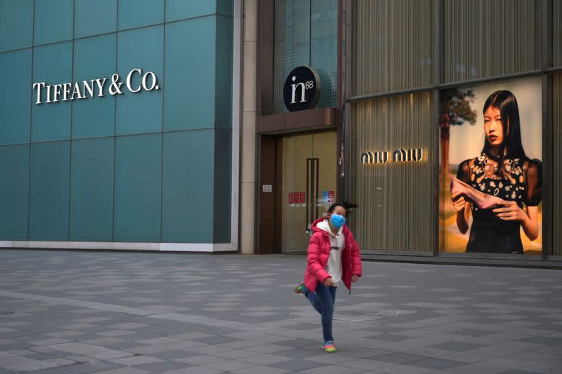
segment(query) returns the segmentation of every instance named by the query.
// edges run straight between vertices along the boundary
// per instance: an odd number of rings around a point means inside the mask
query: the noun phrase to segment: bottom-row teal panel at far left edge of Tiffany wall
[[[0,147],[0,238],[27,240],[30,145]]]

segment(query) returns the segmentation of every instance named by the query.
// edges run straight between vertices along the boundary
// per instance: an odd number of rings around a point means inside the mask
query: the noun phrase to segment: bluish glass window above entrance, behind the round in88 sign
[[[320,76],[317,107],[337,105],[336,0],[275,0],[273,110],[287,112],[283,84],[295,67],[312,67]]]

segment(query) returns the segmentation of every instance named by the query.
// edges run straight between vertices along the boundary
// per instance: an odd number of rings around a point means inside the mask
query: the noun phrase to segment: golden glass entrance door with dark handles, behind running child
[[[306,251],[310,227],[336,192],[336,132],[283,138],[282,251]]]

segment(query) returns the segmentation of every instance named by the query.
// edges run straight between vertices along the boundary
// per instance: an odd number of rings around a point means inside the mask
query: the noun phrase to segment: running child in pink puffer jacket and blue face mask
[[[348,209],[355,207],[350,203],[333,203],[327,217],[313,223],[304,281],[294,290],[305,295],[322,316],[322,349],[330,353],[336,352],[332,336],[336,288],[343,281],[351,293],[351,282],[362,274],[359,246],[344,225]]]

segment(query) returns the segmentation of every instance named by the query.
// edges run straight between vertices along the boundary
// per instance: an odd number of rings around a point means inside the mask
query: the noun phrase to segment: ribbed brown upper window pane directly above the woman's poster
[[[446,0],[444,7],[443,81],[540,69],[542,1]]]

